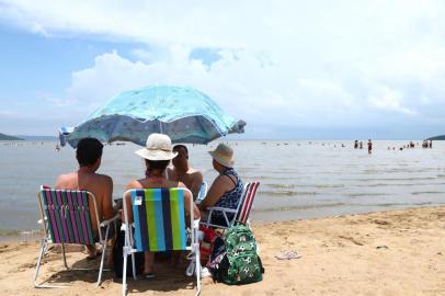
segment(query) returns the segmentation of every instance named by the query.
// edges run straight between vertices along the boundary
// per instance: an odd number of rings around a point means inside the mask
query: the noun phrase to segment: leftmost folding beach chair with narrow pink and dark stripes
[[[102,249],[102,259],[99,267],[96,285],[99,286],[102,278],[103,263],[105,259],[106,241],[109,239],[110,226],[118,217],[116,215],[110,220],[100,223],[95,196],[88,191],[78,190],[53,190],[42,186],[37,194],[37,202],[42,216],[42,226],[44,237],[38,253],[38,260],[34,273],[35,287],[64,287],[48,284],[38,284],[37,276],[41,263],[48,244],[59,243],[62,250],[64,264],[68,267],[65,254],[65,244],[95,244],[100,243]],[[93,234],[90,209],[93,208],[96,217],[96,225],[100,228],[99,236]],[[103,236],[102,230],[105,230]],[[76,269],[90,270],[90,269]]]

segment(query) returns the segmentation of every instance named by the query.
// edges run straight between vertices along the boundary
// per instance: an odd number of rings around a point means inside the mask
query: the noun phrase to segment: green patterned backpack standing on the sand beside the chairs
[[[218,264],[216,280],[229,285],[242,285],[263,280],[264,269],[256,254],[256,241],[252,230],[243,224],[232,226],[226,232],[226,255]]]

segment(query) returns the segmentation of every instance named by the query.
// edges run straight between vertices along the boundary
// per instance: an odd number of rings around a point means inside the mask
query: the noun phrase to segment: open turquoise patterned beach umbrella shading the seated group
[[[75,148],[84,137],[145,146],[152,133],[169,135],[173,143],[207,144],[243,133],[244,125],[196,89],[155,86],[117,94],[65,137]]]

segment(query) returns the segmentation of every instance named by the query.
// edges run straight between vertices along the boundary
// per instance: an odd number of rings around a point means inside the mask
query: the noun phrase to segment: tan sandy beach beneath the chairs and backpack
[[[265,267],[264,280],[227,286],[204,278],[202,295],[445,295],[445,207],[379,212],[270,224],[253,224]],[[67,272],[50,251],[42,280],[69,283],[36,289],[31,278],[38,242],[0,244],[0,295],[119,295],[122,284],[107,272],[95,287],[95,272]],[[76,248],[75,248],[76,250]],[[279,251],[301,258],[277,260]],[[69,264],[98,265],[81,252]],[[129,280],[129,295],[194,295],[184,266],[157,265],[157,278]]]

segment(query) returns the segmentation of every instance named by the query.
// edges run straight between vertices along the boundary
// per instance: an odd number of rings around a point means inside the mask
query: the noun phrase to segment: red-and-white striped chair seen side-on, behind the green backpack
[[[207,220],[203,221],[202,225],[204,225],[205,227],[227,229],[235,223],[247,224],[249,221],[250,212],[252,209],[253,201],[255,198],[256,190],[259,186],[260,186],[259,181],[247,183],[244,185],[244,190],[242,191],[242,196],[238,203],[237,208],[225,208],[217,206],[208,207]],[[215,212],[222,213],[222,216],[226,220],[226,225],[218,225],[212,223],[212,215]]]

